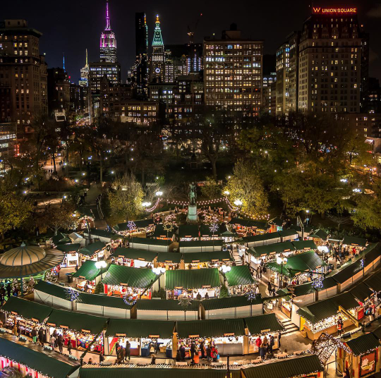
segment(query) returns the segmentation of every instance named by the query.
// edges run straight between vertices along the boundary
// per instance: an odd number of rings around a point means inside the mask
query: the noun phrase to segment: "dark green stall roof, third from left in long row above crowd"
[[[170,339],[174,336],[175,322],[166,320],[110,319],[106,336],[126,335],[127,337],[159,336]]]

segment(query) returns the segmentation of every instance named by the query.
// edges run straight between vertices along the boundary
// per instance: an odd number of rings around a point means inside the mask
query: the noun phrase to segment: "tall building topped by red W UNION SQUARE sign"
[[[367,51],[356,8],[313,7],[299,42],[298,109],[358,113]]]

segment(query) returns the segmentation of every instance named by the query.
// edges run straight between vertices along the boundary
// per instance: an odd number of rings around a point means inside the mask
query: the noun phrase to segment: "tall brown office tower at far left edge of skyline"
[[[18,133],[31,133],[34,116],[47,114],[47,64],[40,56],[42,33],[26,20],[0,25],[1,119],[16,122]]]

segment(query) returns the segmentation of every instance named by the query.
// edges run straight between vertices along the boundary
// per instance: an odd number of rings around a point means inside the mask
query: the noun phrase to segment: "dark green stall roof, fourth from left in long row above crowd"
[[[245,335],[243,319],[207,319],[176,322],[179,337],[222,337]]]

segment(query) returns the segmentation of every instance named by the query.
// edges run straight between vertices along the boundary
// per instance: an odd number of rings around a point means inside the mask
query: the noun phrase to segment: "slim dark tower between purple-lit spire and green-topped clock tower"
[[[145,13],[135,13],[136,61],[134,66],[137,97],[148,96],[148,26]]]

